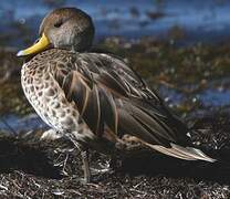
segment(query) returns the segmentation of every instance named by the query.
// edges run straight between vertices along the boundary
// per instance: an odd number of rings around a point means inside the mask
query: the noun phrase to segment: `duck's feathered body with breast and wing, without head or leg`
[[[111,55],[58,49],[41,52],[23,65],[22,87],[48,125],[74,135],[83,145],[100,149],[96,142],[102,138],[115,146],[128,134],[163,153],[171,144],[192,146],[187,126],[133,70]],[[172,149],[170,155],[198,158]]]

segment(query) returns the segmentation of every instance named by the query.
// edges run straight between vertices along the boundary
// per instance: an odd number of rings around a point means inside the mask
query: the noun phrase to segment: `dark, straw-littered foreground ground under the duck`
[[[229,122],[224,114],[207,117],[196,126],[209,130],[192,134],[203,148],[221,145],[221,155],[216,157],[226,157],[226,163],[182,161],[143,149],[121,157],[119,167],[113,171],[94,175],[90,185],[77,181],[82,175],[81,159],[76,150],[66,151],[70,148],[66,143],[2,137],[0,195],[6,198],[229,198]],[[92,154],[94,168],[109,160]]]

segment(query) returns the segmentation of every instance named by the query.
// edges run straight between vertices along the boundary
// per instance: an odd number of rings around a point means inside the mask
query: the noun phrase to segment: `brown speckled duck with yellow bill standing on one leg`
[[[196,147],[181,122],[123,59],[92,51],[92,18],[60,8],[41,22],[39,40],[18,56],[21,85],[38,115],[81,151],[85,184],[91,181],[88,149],[123,153],[125,136],[166,156],[213,163]]]

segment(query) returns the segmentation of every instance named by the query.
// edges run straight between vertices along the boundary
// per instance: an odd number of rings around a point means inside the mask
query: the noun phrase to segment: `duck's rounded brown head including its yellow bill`
[[[94,39],[94,25],[90,15],[76,8],[61,8],[49,13],[40,25],[40,40],[18,55],[41,52],[48,46],[70,51],[87,51]]]

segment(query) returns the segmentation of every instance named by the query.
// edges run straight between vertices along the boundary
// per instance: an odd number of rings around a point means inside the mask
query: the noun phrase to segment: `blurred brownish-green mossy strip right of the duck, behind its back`
[[[116,39],[118,40],[118,39]],[[101,48],[126,56],[130,65],[144,77],[158,78],[180,85],[196,84],[202,80],[227,77],[230,74],[230,45],[176,46],[149,38],[124,48],[125,42],[104,41]]]

